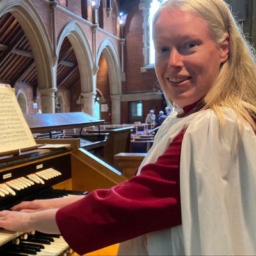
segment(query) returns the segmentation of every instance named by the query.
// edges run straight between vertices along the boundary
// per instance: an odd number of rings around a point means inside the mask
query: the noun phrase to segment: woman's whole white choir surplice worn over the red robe
[[[154,163],[188,125],[180,156],[182,225],[120,243],[118,255],[256,255],[256,136],[232,110],[222,113],[224,134],[212,109],[166,118],[141,166]]]

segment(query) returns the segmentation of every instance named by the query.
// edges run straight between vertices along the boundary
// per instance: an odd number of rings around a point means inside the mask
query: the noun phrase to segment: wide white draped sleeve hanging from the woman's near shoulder
[[[198,116],[182,141],[180,195],[186,255],[256,255],[256,137],[224,111]]]

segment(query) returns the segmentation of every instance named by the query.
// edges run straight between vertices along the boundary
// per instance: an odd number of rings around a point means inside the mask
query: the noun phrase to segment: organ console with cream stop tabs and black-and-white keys
[[[73,191],[52,189],[71,178],[71,150],[33,150],[23,157],[0,157],[0,210],[24,200],[67,196]],[[70,193],[70,194],[68,194]],[[76,193],[77,194],[77,193]],[[44,247],[44,248],[43,248]],[[71,255],[61,236],[22,234],[0,229],[0,255]]]

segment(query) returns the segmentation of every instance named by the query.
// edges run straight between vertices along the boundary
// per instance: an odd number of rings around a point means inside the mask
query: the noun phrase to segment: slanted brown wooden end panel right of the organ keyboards
[[[83,148],[72,153],[72,189],[88,192],[111,188],[127,180],[118,170]]]

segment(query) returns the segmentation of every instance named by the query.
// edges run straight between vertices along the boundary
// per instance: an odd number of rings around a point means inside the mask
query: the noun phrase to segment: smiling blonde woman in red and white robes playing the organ
[[[120,242],[119,255],[256,254],[252,51],[222,0],[166,1],[154,44],[175,112],[138,175],[72,204],[23,202],[0,227],[61,232],[81,254]]]

